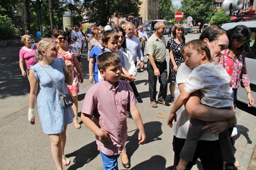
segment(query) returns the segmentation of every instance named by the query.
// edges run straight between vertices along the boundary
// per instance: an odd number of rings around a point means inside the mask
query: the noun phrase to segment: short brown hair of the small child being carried
[[[195,50],[197,51],[197,53],[199,54],[201,51],[205,51],[205,56],[208,60],[212,60],[211,59],[211,51],[209,46],[203,41],[203,40],[191,40],[188,43],[186,43],[182,49],[181,49],[181,53],[182,55],[184,54],[184,49],[185,48],[190,48],[191,50]]]

